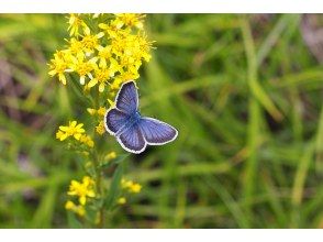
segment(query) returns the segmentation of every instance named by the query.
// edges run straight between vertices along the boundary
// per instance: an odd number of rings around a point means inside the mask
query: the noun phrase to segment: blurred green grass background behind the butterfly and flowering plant
[[[315,18],[147,15],[157,48],[141,70],[141,110],[179,138],[129,156],[126,177],[143,190],[107,228],[323,228]],[[91,123],[81,100],[47,75],[66,22],[0,15],[0,228],[68,228],[66,190],[83,170],[55,131],[68,119]]]

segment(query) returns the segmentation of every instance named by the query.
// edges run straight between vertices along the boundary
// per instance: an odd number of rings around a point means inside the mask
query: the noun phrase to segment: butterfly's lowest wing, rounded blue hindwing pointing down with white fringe
[[[131,153],[142,153],[146,148],[146,142],[138,124],[133,124],[125,129],[119,136],[118,142],[121,146]]]

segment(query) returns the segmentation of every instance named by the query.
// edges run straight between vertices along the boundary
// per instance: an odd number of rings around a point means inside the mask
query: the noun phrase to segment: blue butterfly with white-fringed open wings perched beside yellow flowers
[[[171,125],[141,116],[138,92],[133,80],[121,86],[114,103],[115,107],[104,116],[104,127],[125,151],[138,154],[147,144],[162,145],[177,138],[178,131]]]

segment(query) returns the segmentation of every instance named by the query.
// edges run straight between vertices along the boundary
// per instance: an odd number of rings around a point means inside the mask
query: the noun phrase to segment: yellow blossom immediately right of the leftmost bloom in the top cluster
[[[96,62],[98,61],[98,57],[92,57],[91,59],[86,59],[85,54],[79,54],[77,57],[71,56],[71,69],[75,70],[80,79],[80,84],[86,84],[86,76],[91,77],[91,72],[96,67]]]

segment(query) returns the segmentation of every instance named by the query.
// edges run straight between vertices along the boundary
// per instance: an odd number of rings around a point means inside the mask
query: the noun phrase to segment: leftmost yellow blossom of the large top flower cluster
[[[65,77],[65,73],[66,72],[70,72],[70,69],[68,69],[68,56],[67,56],[67,52],[56,52],[54,54],[54,58],[51,59],[49,65],[49,76],[54,77],[55,75],[58,75],[58,80],[66,85],[66,77]]]

